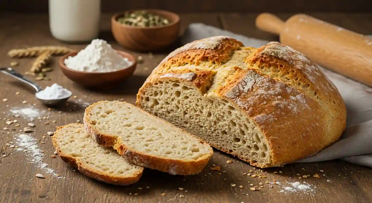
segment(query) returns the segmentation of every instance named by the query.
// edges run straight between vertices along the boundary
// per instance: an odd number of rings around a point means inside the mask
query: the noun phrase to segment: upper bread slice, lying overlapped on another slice
[[[173,175],[202,171],[213,154],[190,133],[126,102],[90,105],[84,126],[98,144],[113,146],[129,162]]]

